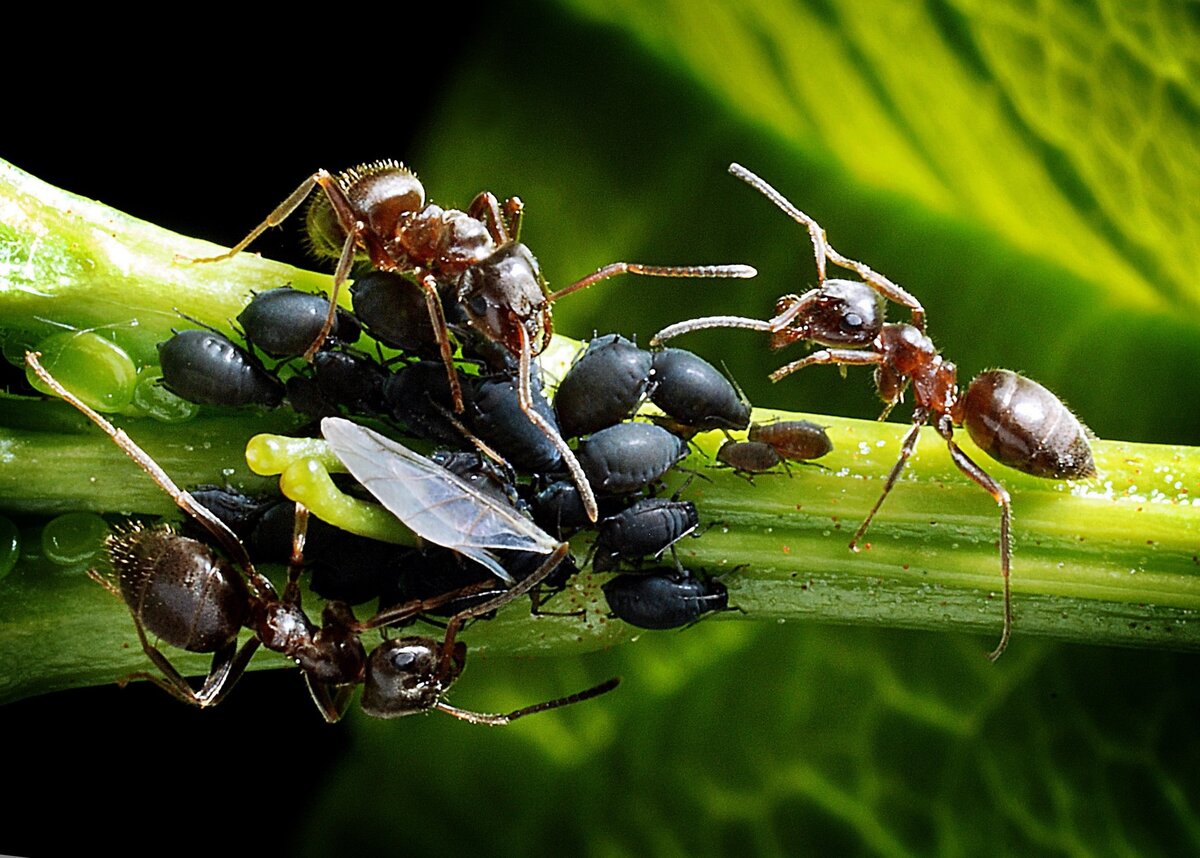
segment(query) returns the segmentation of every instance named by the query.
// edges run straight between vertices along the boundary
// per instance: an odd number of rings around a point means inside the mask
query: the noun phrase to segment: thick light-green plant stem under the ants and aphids
[[[136,366],[179,324],[176,308],[228,326],[252,289],[326,277],[242,254],[220,264],[180,263],[209,245],[82,200],[0,168],[0,319],[12,359],[62,326],[97,329]],[[557,359],[562,366],[562,359]],[[128,409],[127,409],[128,410]],[[88,562],[54,565],[38,550],[44,516],[68,510],[169,511],[170,503],[95,427],[66,406],[10,398],[0,412],[0,510],[22,526],[17,568],[0,580],[0,701],[110,682],[146,667],[128,612],[83,574]],[[757,420],[769,414],[756,414]],[[792,415],[787,415],[792,416]],[[821,466],[751,485],[708,467],[720,438],[700,438],[688,462],[704,479],[686,497],[704,530],[679,553],[689,568],[725,575],[744,613],[720,619],[814,618],[1000,634],[1000,516],[992,500],[950,463],[926,432],[905,476],[851,553],[850,535],[878,497],[904,427],[809,415],[829,427],[834,451]],[[283,432],[281,414],[203,413],[160,422],[118,419],[182,485],[262,487],[242,450],[259,432]],[[976,450],[1013,494],[1013,646],[1030,635],[1200,648],[1200,450],[1097,442],[1100,476],[1069,485],[1018,474]],[[680,478],[682,479],[682,478]],[[586,548],[581,539],[576,550]],[[606,618],[599,586],[581,574],[552,607],[584,618],[530,618],[520,605],[469,632],[498,652],[565,653],[629,640]],[[715,620],[714,620],[715,622]],[[170,654],[188,670],[204,656]],[[256,665],[281,665],[265,655]]]

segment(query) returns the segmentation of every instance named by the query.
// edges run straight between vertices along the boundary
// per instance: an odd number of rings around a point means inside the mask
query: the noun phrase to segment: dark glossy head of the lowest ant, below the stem
[[[433,709],[462,673],[467,647],[454,644],[446,668],[442,656],[442,644],[427,637],[380,643],[367,660],[362,710],[374,718],[401,718]]]

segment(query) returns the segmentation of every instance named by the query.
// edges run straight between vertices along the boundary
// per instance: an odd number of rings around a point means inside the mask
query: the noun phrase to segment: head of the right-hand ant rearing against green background
[[[776,316],[791,311],[792,320],[772,336],[772,348],[799,340],[822,346],[868,346],[883,328],[884,306],[880,295],[857,280],[827,280],[804,295],[785,295],[775,305]]]

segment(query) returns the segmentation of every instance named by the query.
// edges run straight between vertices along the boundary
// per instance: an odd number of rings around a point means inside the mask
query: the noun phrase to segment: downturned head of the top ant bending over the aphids
[[[511,354],[521,350],[521,332],[533,354],[550,343],[550,304],[538,260],[524,245],[511,241],[486,260],[467,269],[458,300],[475,330],[498,342]]]

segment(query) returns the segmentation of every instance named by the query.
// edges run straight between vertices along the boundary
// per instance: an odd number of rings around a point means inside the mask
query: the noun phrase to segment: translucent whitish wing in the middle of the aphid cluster
[[[342,418],[325,418],[320,433],[346,469],[421,539],[457,551],[511,582],[488,548],[548,554],[548,533],[481,494],[439,464]]]

